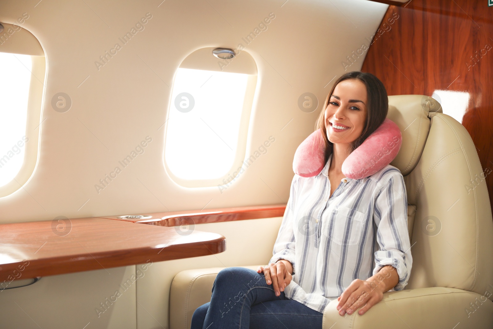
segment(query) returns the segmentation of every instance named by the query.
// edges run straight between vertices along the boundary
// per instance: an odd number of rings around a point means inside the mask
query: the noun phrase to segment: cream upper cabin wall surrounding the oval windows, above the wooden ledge
[[[35,171],[0,198],[0,222],[287,202],[294,151],[320,110],[303,112],[299,96],[311,92],[323,102],[332,79],[345,73],[341,62],[368,44],[388,7],[366,0],[36,2],[0,2],[1,22],[29,14],[22,27],[47,58]],[[146,13],[144,29],[97,68]],[[268,29],[246,45],[242,37],[270,13]],[[239,43],[258,69],[246,156],[269,136],[276,141],[223,193],[181,187],[165,171],[160,128],[176,68],[198,48]],[[350,70],[359,70],[365,55]],[[72,101],[65,113],[51,107],[59,92]],[[146,136],[152,142],[144,153],[98,193],[95,184]]]

